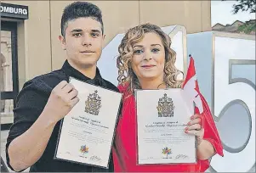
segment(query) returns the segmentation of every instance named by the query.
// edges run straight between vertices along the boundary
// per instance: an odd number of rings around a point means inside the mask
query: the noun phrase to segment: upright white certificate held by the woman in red
[[[196,137],[185,127],[194,105],[182,89],[136,90],[137,164],[196,163]]]

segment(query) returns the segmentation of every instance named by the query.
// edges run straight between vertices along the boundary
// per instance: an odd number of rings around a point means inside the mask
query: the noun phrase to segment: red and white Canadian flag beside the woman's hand
[[[223,146],[221,144],[219,133],[215,126],[213,116],[208,107],[206,99],[202,96],[199,90],[198,82],[196,79],[196,69],[194,65],[194,59],[190,55],[190,64],[183,84],[183,89],[187,97],[190,98],[196,104],[195,113],[201,115],[202,127],[204,128],[203,139],[208,140],[213,145],[216,153],[224,156]]]

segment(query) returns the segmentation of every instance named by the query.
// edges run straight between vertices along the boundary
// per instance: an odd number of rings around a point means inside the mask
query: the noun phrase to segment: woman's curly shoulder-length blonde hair
[[[153,32],[162,38],[162,45],[165,50],[165,64],[164,64],[164,83],[170,88],[179,88],[182,86],[183,80],[178,80],[178,75],[182,73],[175,66],[176,53],[170,47],[171,39],[165,34],[162,29],[157,25],[143,24],[135,26],[128,30],[122,38],[122,42],[118,47],[119,55],[117,56],[118,77],[117,80],[122,86],[126,86],[128,92],[134,93],[134,89],[140,89],[137,76],[131,67],[131,59],[134,54],[134,43],[140,42],[145,33]]]

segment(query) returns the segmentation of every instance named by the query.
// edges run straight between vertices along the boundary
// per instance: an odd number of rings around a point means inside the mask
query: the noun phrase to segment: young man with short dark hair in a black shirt
[[[77,90],[67,82],[69,76],[118,92],[96,66],[105,38],[100,8],[80,2],[67,6],[61,35],[65,64],[27,81],[17,97],[14,125],[6,144],[7,163],[15,171],[28,167],[39,172],[113,171],[112,157],[109,170],[54,159],[60,120],[79,102]]]

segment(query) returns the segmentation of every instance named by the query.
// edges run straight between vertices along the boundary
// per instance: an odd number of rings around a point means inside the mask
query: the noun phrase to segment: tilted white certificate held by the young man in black
[[[79,102],[62,120],[54,159],[109,167],[122,94],[70,78]]]

